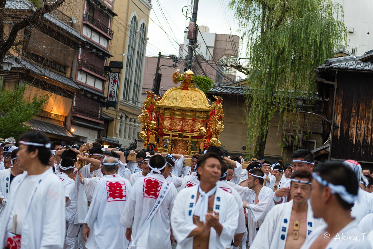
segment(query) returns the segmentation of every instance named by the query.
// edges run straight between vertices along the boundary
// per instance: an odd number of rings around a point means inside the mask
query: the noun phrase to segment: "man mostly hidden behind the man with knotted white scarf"
[[[239,159],[239,158],[238,158]],[[225,190],[228,193],[231,193],[237,202],[239,215],[238,215],[238,227],[235,231],[234,239],[233,239],[233,249],[238,249],[239,244],[242,242],[242,237],[244,236],[246,230],[246,220],[245,220],[245,213],[244,209],[241,208],[242,199],[238,192],[227,183],[226,177],[228,176],[228,170],[232,168],[231,165],[223,162],[222,163],[222,175],[220,176],[220,180],[216,183],[218,187]]]

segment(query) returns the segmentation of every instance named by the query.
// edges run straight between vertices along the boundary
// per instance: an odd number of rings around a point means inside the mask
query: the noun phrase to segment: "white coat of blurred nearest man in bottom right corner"
[[[324,236],[327,224],[316,228],[308,239],[304,242],[301,249],[309,249],[317,237]],[[329,244],[325,247],[326,249],[372,249],[368,240],[367,234],[361,234],[362,232],[358,228],[358,223],[355,220],[347,224],[342,230],[340,230],[336,236],[334,236]]]

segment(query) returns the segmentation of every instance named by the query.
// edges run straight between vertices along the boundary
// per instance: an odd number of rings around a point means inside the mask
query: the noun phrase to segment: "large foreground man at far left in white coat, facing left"
[[[20,137],[19,167],[26,172],[12,182],[0,222],[0,245],[18,249],[62,249],[65,237],[65,191],[47,166],[50,141],[28,132]]]

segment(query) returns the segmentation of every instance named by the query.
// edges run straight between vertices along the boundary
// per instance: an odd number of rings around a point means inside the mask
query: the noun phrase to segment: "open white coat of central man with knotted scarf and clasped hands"
[[[197,228],[193,223],[193,208],[197,199],[198,186],[182,189],[173,204],[171,226],[173,235],[178,241],[176,249],[193,248],[194,238],[188,236],[192,230]],[[219,223],[222,224],[223,230],[219,236],[215,229],[211,227],[209,248],[230,248],[238,226],[239,213],[239,208],[233,195],[218,187],[214,196],[213,211],[219,214]]]

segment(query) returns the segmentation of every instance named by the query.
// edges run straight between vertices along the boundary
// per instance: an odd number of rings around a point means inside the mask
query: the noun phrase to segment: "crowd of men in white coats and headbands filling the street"
[[[0,248],[372,248],[373,178],[357,161],[315,166],[299,149],[289,165],[242,168],[216,146],[185,157],[7,138]]]

